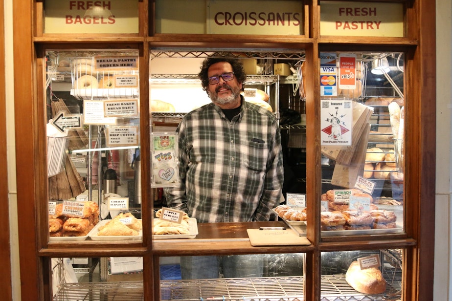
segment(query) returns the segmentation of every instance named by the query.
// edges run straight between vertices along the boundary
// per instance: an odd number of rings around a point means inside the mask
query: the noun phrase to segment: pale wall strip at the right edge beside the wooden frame
[[[452,300],[451,287],[451,78],[452,2],[436,0],[436,216],[433,294]],[[446,127],[444,125],[447,125]]]

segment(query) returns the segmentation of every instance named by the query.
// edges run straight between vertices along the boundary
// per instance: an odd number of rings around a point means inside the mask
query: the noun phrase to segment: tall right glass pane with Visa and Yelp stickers
[[[322,53],[322,236],[404,229],[404,55]]]

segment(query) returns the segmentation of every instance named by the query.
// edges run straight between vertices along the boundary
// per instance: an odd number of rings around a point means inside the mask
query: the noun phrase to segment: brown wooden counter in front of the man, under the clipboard
[[[285,227],[283,221],[241,222],[241,223],[198,223],[198,235],[192,239],[156,239],[153,252],[159,256],[218,255],[226,254],[275,254],[312,251],[309,245],[252,246],[247,229],[260,227]]]

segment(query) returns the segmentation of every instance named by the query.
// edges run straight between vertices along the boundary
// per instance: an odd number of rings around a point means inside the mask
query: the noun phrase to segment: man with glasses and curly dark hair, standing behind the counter
[[[278,122],[240,94],[246,80],[240,60],[207,58],[199,77],[212,103],[187,113],[179,124],[181,183],[165,190],[168,206],[200,223],[267,221],[283,185]],[[260,277],[262,259],[182,257],[182,278]]]

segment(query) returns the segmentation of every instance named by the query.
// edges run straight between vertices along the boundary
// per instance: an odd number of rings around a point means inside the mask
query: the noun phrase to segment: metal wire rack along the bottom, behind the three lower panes
[[[386,268],[391,270],[391,268]],[[386,270],[385,269],[385,270]],[[400,298],[400,281],[388,283],[381,295],[365,295],[355,291],[345,280],[345,275],[321,277],[322,301],[395,301]],[[392,277],[393,272],[384,272]],[[239,278],[203,280],[161,280],[161,300],[199,301],[288,301],[304,300],[304,278]],[[61,285],[54,301],[85,300],[143,300],[142,281],[65,283]]]

